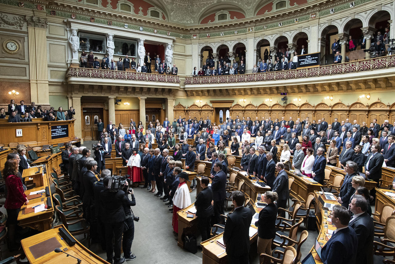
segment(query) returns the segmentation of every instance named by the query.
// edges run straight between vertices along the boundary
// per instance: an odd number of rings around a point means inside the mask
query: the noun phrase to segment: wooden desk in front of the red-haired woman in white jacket
[[[320,187],[322,187],[322,184],[318,182],[313,183],[305,179],[304,177],[295,175],[293,172],[290,171],[286,171],[286,172],[288,174],[288,177],[294,178],[290,191],[290,196],[292,198],[298,199],[300,201],[306,201],[307,195],[310,192],[318,191],[320,190]]]

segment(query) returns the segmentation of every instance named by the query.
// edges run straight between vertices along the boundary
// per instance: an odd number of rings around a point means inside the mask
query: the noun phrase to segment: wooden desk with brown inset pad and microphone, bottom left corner
[[[77,243],[73,246],[70,246],[66,243],[65,240],[62,239],[60,236],[59,228],[64,228],[64,230],[67,231],[67,229],[64,227],[64,225],[60,226],[55,226],[54,229],[47,230],[45,232],[42,232],[40,234],[25,238],[21,240],[21,245],[23,247],[23,251],[26,254],[26,257],[29,260],[29,263],[32,264],[39,264],[39,263],[76,263],[77,260],[75,258],[68,257],[64,253],[55,253],[54,249],[56,247],[59,247],[63,251],[65,251],[67,254],[70,256],[74,256],[76,258],[79,258],[82,260],[82,263],[107,263],[109,262],[103,260],[100,258],[98,255],[94,254],[92,251],[84,247],[77,239]],[[70,234],[70,233],[69,233]],[[70,234],[71,236],[71,234]],[[39,243],[45,243],[48,239],[53,239],[51,240],[51,247],[48,248],[45,255],[43,256],[37,256],[36,258],[33,256],[33,253],[31,251],[31,247],[34,245],[37,245]],[[56,240],[55,240],[56,239]],[[43,244],[45,247],[46,245]],[[45,253],[45,251],[43,252]],[[37,254],[37,253],[36,253]],[[75,261],[74,261],[75,260]]]

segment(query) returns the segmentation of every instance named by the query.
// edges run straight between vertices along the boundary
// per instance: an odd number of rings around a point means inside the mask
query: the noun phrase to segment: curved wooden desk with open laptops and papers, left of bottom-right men
[[[325,213],[325,210],[322,207],[322,204],[320,203],[320,201],[318,200],[318,197],[320,196],[320,194],[318,192],[314,192],[314,196],[316,199],[316,205],[315,205],[315,210],[316,210],[316,223],[319,229],[318,232],[318,237],[317,240],[320,243],[323,243],[324,245],[327,243],[326,241],[326,236],[328,232],[333,232],[336,230],[336,227],[333,226],[332,224],[329,223],[328,218],[329,218],[329,213],[331,211],[327,211],[327,213]],[[340,205],[340,203],[338,203],[337,201],[328,201],[328,200],[324,200],[326,203],[332,203],[335,205]],[[327,227],[325,227],[325,225]],[[328,239],[331,236],[328,236]],[[315,249],[314,249],[314,245],[312,247],[312,249],[310,250],[310,252],[312,253],[312,255],[315,257],[317,255]],[[316,263],[322,263],[321,261],[315,260]]]

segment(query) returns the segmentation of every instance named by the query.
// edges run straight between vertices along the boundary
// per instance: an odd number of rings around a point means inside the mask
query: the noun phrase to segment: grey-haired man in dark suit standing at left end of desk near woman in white
[[[284,171],[284,164],[282,162],[277,162],[276,171],[278,171],[278,174],[275,181],[273,182],[273,192],[276,192],[278,195],[277,207],[285,209],[290,196],[290,191],[288,189],[288,175],[286,171]],[[279,211],[280,217],[285,218],[285,211]]]

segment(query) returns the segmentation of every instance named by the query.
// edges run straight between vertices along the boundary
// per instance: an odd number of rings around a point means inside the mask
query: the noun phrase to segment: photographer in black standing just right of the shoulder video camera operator
[[[129,189],[129,179],[126,180],[126,184],[123,188],[125,192],[125,198],[123,201],[123,207],[125,211],[125,224],[124,224],[124,233],[123,233],[123,241],[122,241],[122,250],[124,252],[125,260],[134,260],[136,255],[130,252],[132,248],[132,242],[134,238],[134,221],[138,221],[139,218],[133,215],[130,206],[136,205],[136,200],[133,195],[133,189]],[[132,195],[132,200],[129,199],[129,194]]]

